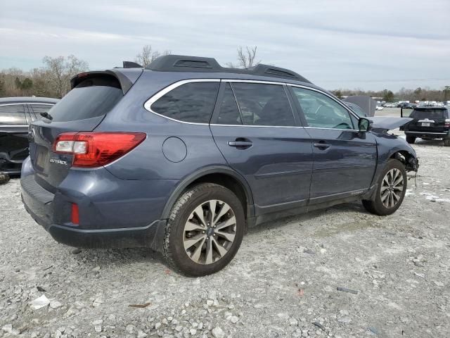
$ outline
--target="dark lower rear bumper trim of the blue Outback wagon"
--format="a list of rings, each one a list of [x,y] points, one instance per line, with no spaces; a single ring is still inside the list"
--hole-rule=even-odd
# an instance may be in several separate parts
[[[56,224],[56,194],[37,184],[34,175],[20,179],[22,201],[32,218],[57,242],[78,248],[107,249],[149,247],[162,250],[166,220],[155,220],[142,227],[82,229],[78,225]]]

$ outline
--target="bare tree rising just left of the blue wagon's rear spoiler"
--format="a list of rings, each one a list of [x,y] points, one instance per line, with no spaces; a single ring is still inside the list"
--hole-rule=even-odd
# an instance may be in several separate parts
[[[42,61],[44,68],[41,69],[48,78],[51,86],[51,92],[57,97],[63,97],[70,90],[70,79],[88,69],[86,61],[79,60],[73,55],[52,58],[45,56]]]

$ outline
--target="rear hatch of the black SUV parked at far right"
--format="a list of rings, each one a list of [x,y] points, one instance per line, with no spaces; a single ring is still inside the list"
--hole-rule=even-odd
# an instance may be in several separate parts
[[[405,126],[406,131],[445,132],[449,128],[448,113],[444,107],[416,107],[409,115],[413,120]]]

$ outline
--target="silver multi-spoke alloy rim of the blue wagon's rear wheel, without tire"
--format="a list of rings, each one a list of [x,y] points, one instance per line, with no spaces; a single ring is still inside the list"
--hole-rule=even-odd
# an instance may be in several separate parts
[[[198,264],[212,264],[225,256],[236,236],[236,217],[224,201],[212,199],[197,206],[183,231],[184,250]]]

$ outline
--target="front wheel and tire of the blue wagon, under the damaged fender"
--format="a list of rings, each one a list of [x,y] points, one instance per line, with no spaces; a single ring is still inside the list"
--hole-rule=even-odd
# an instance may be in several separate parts
[[[400,180],[399,175],[401,175],[402,180]],[[397,185],[396,182],[398,182]],[[407,184],[408,179],[404,164],[393,158],[390,159],[378,179],[374,199],[362,201],[364,208],[375,215],[384,216],[394,213],[403,202]]]

